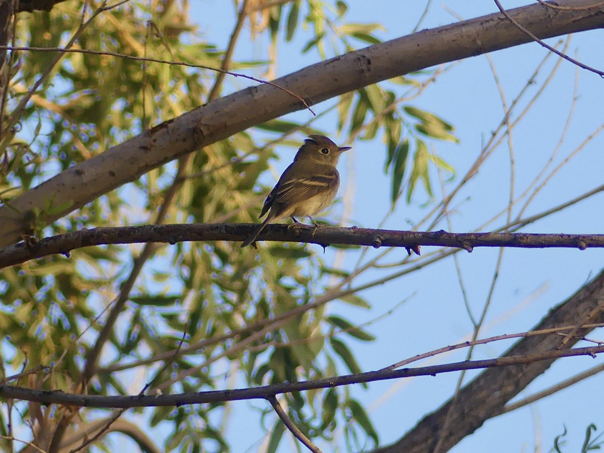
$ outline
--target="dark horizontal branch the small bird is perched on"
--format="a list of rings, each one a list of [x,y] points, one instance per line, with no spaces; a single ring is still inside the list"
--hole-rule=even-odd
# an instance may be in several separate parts
[[[242,241],[255,224],[249,223],[187,223],[184,225],[141,225],[92,228],[59,236],[37,239],[0,249],[0,268],[53,254],[69,256],[75,249],[94,245],[159,242],[175,244],[187,241]],[[418,245],[463,248],[602,248],[604,234],[538,234],[538,233],[447,233],[446,231],[397,231],[370,228],[340,228],[320,225],[267,225],[258,240],[291,241],[329,245],[365,245],[379,247],[416,248]]]

